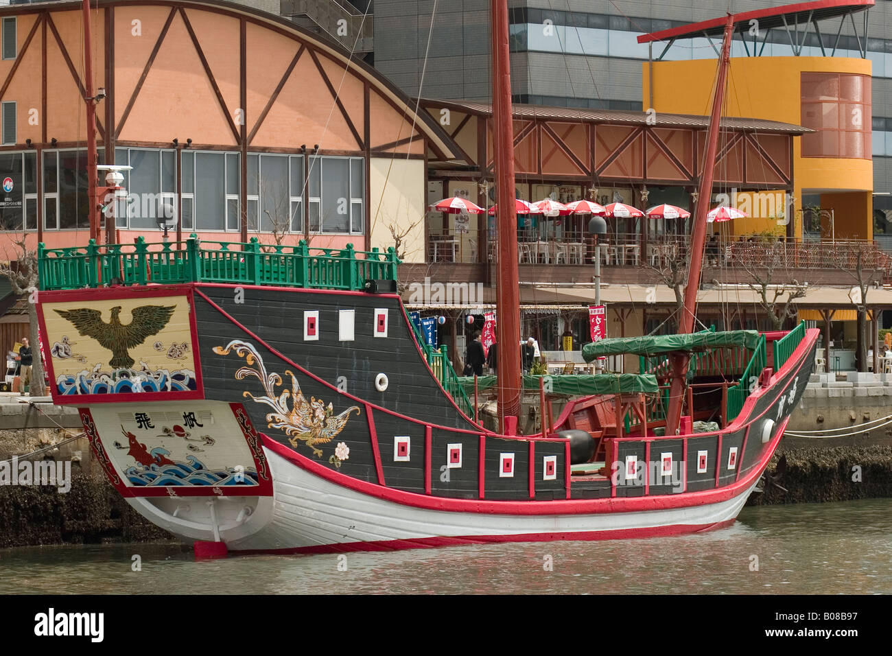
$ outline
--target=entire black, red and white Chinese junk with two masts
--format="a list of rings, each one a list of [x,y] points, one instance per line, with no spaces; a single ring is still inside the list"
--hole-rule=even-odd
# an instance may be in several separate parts
[[[497,84],[505,11],[494,22],[505,32]],[[499,111],[510,112],[504,91]],[[709,167],[704,179],[708,192]],[[694,302],[706,209],[695,222]],[[516,228],[513,210],[500,224]],[[516,243],[505,234],[509,264]],[[638,353],[639,375],[591,377],[593,393],[536,435],[511,434],[517,408],[500,396],[496,433],[475,422],[449,361],[407,317],[397,263],[392,249],[255,239],[236,250],[194,236],[41,248],[40,328],[60,345],[49,359],[54,403],[78,407],[136,511],[196,553],[667,536],[735,519],[814,365],[817,330],[693,332],[690,303],[680,335],[586,346],[589,360]],[[516,290],[516,269],[500,270],[500,291],[511,275]],[[120,284],[103,286],[112,278]],[[513,303],[499,316],[516,317]],[[500,360],[499,371],[517,379],[499,384],[516,401],[512,351],[499,356],[513,369]],[[694,432],[695,419],[714,428]]]

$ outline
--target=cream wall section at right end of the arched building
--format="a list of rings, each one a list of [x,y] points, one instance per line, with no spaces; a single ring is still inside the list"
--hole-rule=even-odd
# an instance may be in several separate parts
[[[369,160],[372,248],[394,245],[393,228],[404,233],[403,262],[425,261],[425,162],[403,157]]]

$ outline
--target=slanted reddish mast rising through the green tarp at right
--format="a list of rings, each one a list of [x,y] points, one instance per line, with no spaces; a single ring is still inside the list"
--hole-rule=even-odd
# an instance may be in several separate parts
[[[678,332],[688,335],[694,331],[694,318],[697,316],[697,292],[700,288],[700,273],[703,266],[703,249],[706,245],[706,213],[709,212],[710,199],[713,195],[713,172],[715,168],[715,152],[719,141],[719,121],[722,118],[722,101],[724,98],[725,79],[728,74],[728,62],[731,54],[731,35],[734,31],[734,16],[728,14],[725,22],[722,56],[719,58],[718,76],[715,80],[713,95],[713,111],[709,117],[709,131],[706,137],[706,154],[703,162],[703,175],[700,176],[700,187],[697,198],[697,211],[694,213],[693,233],[690,237],[690,270],[688,286],[684,290],[684,308],[678,321]],[[681,420],[681,405],[684,403],[684,387],[688,375],[690,354],[673,353],[670,357],[673,367],[672,387],[669,390],[669,408],[666,413],[666,435],[677,435]],[[689,408],[690,412],[691,409]]]

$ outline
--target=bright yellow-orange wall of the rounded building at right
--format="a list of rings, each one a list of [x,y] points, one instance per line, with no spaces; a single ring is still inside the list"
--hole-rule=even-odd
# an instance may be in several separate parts
[[[653,97],[651,93],[653,67]],[[658,112],[703,115],[709,112],[713,93],[715,60],[685,62],[645,62],[642,101],[645,109]],[[737,57],[731,59],[723,104],[724,116],[779,120],[802,125],[801,73],[838,72],[871,75],[871,62],[845,57]],[[684,80],[679,84],[679,80]],[[870,125],[871,117],[864,117]],[[801,137],[793,139],[793,195],[796,198],[791,220],[794,233],[802,237],[799,211],[804,194],[822,195],[835,210],[837,236],[873,237],[873,162],[870,159],[803,157]],[[830,193],[822,193],[822,192]],[[849,192],[849,193],[843,193]],[[763,232],[770,220],[732,221],[731,234]],[[780,228],[782,229],[782,228]],[[840,232],[841,231],[841,232]]]

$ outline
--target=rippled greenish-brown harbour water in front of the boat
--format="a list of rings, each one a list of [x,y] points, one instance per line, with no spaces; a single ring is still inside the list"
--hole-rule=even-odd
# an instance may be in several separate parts
[[[141,571],[132,569],[137,554]],[[196,562],[178,544],[5,549],[0,574],[0,593],[888,594],[892,499],[745,508],[734,526],[698,536],[351,553],[345,561]]]

